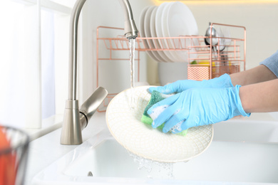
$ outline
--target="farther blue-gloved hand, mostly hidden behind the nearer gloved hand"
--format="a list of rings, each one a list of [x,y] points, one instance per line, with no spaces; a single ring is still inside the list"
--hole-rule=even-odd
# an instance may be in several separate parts
[[[170,83],[165,86],[151,87],[149,88],[150,93],[153,93],[153,90],[157,90],[163,94],[171,93],[181,93],[184,90],[190,88],[231,88],[233,87],[230,75],[224,74],[218,78],[213,78],[210,80],[177,80],[174,83]]]

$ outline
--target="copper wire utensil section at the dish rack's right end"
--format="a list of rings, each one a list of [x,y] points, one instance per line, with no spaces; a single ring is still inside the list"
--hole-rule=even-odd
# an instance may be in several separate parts
[[[195,48],[194,51],[188,51],[190,63],[187,67],[187,79],[189,80],[209,80],[220,77],[220,75],[238,73],[245,70],[246,61],[246,29],[244,26],[235,26],[221,23],[212,23],[212,25],[222,26],[224,28],[234,28],[237,33],[234,37],[213,37],[217,40],[216,46],[207,46],[205,39],[212,39],[212,36],[199,38],[198,44],[192,44],[189,48]],[[239,36],[241,33],[241,36]],[[192,37],[193,39],[194,37]],[[229,44],[222,43],[221,39],[229,40]],[[192,43],[192,42],[191,42]],[[225,48],[224,51],[217,50]],[[197,54],[197,58],[190,57],[190,54]],[[191,55],[192,56],[192,55]]]

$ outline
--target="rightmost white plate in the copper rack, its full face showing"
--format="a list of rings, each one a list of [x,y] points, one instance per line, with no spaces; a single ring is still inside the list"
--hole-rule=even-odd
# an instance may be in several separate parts
[[[173,2],[173,4],[170,4],[168,10],[165,11],[165,14],[163,14],[163,16],[166,16],[166,26],[164,26],[164,28],[167,29],[167,31],[164,31],[167,36],[177,37],[198,35],[198,28],[195,18],[190,9],[185,4],[179,1]],[[190,41],[190,39],[186,41],[187,46],[190,46]],[[196,42],[197,39],[195,39],[191,43],[191,46],[194,45],[193,43]],[[172,42],[172,44],[173,47],[174,44],[175,46],[177,46],[179,43],[177,40],[175,40],[175,42]],[[194,48],[192,48],[191,50],[191,52],[194,52]],[[175,56],[177,56],[177,61],[187,62],[187,51],[175,51],[174,53],[176,54]],[[190,56],[190,58],[194,58],[194,56]]]

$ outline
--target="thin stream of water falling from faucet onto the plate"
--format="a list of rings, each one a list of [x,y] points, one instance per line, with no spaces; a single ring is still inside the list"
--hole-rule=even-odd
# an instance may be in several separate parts
[[[130,108],[134,109],[135,107],[135,38],[129,39],[129,48],[130,48],[130,87],[131,87],[131,95],[130,95]]]

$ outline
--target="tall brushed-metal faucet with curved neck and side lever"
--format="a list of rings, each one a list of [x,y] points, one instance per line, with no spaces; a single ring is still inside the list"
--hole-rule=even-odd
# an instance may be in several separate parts
[[[125,37],[136,38],[138,30],[133,20],[133,13],[128,0],[118,0],[122,6],[125,16]],[[68,73],[68,100],[66,100],[65,112],[63,115],[63,125],[61,132],[61,144],[81,144],[82,129],[88,125],[88,121],[96,112],[99,105],[108,95],[107,90],[98,87],[96,91],[88,97],[79,109],[76,99],[76,78],[77,78],[77,43],[78,43],[78,19],[83,4],[86,0],[78,0],[73,6],[70,20],[70,43],[69,43],[69,73]]]

